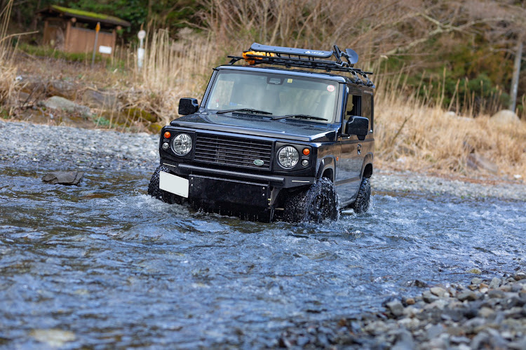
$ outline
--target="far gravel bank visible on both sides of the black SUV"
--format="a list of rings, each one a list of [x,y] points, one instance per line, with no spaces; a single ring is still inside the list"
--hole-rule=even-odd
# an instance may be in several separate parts
[[[66,126],[0,121],[0,160],[4,165],[30,169],[150,170],[159,163],[158,135],[118,133]],[[526,185],[480,184],[442,177],[375,170],[374,191],[450,194],[458,197],[496,197],[524,201]]]

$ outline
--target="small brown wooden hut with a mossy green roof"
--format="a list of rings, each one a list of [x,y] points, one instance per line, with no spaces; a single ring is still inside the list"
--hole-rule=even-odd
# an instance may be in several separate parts
[[[116,30],[130,23],[110,15],[51,5],[39,11],[43,17],[43,44],[67,53],[93,52],[97,24],[97,53],[112,55],[115,51]]]

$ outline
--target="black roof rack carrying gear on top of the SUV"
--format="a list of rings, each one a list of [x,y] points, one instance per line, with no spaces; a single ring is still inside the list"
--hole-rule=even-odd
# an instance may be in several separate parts
[[[332,56],[336,60],[330,60]],[[346,62],[342,60],[342,57],[345,58]],[[336,45],[334,51],[321,51],[252,43],[250,50],[243,52],[242,57],[228,56],[228,58],[231,58],[230,65],[234,65],[239,60],[246,60],[250,65],[283,65],[288,68],[300,67],[323,69],[327,72],[349,72],[353,83],[375,87],[375,84],[367,77],[367,74],[372,74],[372,72],[363,72],[363,70],[353,67],[358,62],[358,54],[350,48],[341,51]],[[365,81],[360,76],[363,76]]]

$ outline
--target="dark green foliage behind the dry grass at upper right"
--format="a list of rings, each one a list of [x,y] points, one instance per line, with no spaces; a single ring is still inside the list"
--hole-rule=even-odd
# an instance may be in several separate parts
[[[510,96],[503,89],[511,81],[513,60],[506,57],[506,51],[487,42],[447,44],[435,39],[425,43],[424,51],[433,55],[419,58],[418,69],[407,68],[418,60],[408,54],[389,58],[382,72],[404,72],[400,83],[411,89],[423,86],[419,96],[434,103],[442,101],[445,108],[458,107],[459,112],[507,108]]]

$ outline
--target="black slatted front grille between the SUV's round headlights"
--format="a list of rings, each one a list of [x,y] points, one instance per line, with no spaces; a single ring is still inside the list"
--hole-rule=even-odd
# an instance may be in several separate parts
[[[198,134],[194,160],[242,168],[270,169],[272,142]],[[257,161],[263,161],[258,166]]]

